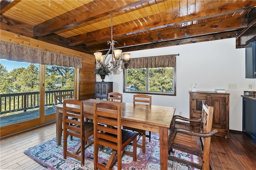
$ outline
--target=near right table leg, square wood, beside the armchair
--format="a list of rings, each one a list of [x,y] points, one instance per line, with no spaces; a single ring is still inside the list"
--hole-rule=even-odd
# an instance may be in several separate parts
[[[160,168],[168,168],[168,128],[159,127],[159,144],[160,144]]]

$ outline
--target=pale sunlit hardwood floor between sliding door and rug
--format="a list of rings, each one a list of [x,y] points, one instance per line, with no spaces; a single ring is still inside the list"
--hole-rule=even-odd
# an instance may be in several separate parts
[[[27,155],[24,150],[56,137],[56,123],[1,138],[1,170],[47,170]]]

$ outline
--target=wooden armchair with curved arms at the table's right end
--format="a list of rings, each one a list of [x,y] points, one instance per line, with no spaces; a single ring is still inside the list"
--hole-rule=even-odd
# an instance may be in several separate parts
[[[175,115],[170,125],[170,131],[168,133],[168,158],[195,168],[202,170],[210,169],[210,142],[211,137],[218,133],[216,129],[212,130],[213,120],[212,106],[208,106],[203,102],[202,104],[202,118],[199,120],[187,119],[180,115]],[[176,119],[181,119],[189,122],[202,122],[202,128],[198,131],[192,131],[190,129],[184,129],[175,127]],[[200,160],[199,163],[190,162],[183,158],[176,157],[171,154],[173,149],[180,150],[189,154],[197,155]]]

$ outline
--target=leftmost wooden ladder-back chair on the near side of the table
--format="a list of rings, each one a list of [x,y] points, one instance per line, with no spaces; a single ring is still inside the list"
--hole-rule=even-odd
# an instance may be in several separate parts
[[[70,106],[72,104],[72,106]],[[81,161],[84,165],[84,150],[92,145],[88,137],[93,135],[93,123],[84,121],[83,102],[76,99],[63,101],[63,158],[67,156]],[[68,135],[80,139],[80,145],[74,152],[68,151]]]

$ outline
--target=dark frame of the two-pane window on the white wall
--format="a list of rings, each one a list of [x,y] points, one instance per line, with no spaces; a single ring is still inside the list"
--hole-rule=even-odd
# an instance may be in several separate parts
[[[160,68],[160,67],[158,67]],[[136,93],[136,94],[155,94],[155,95],[165,95],[165,96],[176,96],[176,64],[173,68],[173,91],[170,92],[149,92],[149,69],[146,68],[146,91],[129,91],[126,90],[126,69],[123,70],[123,92],[124,93]],[[142,68],[138,68],[142,69]]]

